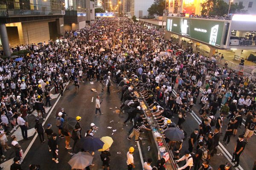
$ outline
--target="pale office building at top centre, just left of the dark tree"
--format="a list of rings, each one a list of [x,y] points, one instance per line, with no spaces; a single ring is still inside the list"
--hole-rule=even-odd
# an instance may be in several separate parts
[[[131,0],[131,17],[134,15],[139,18],[148,16],[148,8],[154,3],[154,0]]]

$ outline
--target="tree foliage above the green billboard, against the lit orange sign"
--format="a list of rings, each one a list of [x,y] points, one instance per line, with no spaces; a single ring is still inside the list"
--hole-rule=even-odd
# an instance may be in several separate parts
[[[229,4],[224,2],[224,0],[206,0],[204,3],[201,4],[202,6],[202,15],[219,15],[223,16],[227,14]],[[244,6],[238,5],[237,3],[230,5],[230,14],[238,14],[244,13],[243,10]]]

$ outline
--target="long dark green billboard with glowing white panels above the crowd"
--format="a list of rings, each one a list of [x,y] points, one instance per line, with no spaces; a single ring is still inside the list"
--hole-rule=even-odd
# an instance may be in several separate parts
[[[220,46],[223,21],[200,20],[184,17],[167,17],[166,30],[176,34],[206,42],[210,45]]]

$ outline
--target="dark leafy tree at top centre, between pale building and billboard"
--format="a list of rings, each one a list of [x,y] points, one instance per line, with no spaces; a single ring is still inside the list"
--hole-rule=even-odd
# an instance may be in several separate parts
[[[148,15],[163,16],[164,8],[165,8],[165,0],[154,0],[154,3],[148,8]]]

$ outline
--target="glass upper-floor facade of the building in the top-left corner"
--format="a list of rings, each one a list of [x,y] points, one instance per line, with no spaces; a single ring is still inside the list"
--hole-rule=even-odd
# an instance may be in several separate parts
[[[0,0],[0,17],[61,14],[64,0]]]

